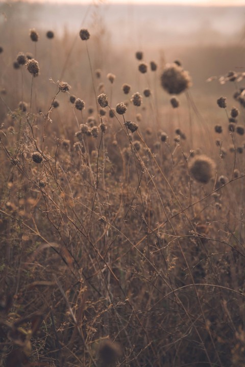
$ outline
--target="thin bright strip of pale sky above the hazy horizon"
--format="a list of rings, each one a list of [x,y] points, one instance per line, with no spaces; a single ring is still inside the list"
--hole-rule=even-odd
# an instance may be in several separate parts
[[[245,6],[245,0],[29,0],[38,3],[67,3],[67,4],[90,4],[90,3],[121,3],[121,4],[182,4],[182,5],[206,5],[206,6]]]

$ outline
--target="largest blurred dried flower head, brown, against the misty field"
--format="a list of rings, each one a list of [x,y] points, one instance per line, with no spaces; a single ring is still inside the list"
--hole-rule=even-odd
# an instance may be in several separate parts
[[[191,86],[191,78],[182,67],[168,64],[161,75],[161,86],[169,94],[180,94]]]

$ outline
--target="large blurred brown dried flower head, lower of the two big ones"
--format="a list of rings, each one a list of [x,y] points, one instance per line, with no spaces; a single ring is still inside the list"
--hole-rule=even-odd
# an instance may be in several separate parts
[[[190,163],[192,177],[202,183],[208,183],[214,176],[215,163],[206,155],[195,155]]]

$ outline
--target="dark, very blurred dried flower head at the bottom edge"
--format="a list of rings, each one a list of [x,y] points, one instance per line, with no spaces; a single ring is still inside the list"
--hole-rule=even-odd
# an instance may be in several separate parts
[[[116,363],[121,356],[119,344],[112,343],[111,340],[104,340],[99,348],[99,358],[102,367],[107,367]]]

